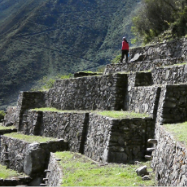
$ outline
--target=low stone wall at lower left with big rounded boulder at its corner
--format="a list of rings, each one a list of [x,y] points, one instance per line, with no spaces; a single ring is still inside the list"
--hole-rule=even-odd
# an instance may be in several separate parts
[[[46,143],[28,143],[1,136],[1,163],[29,176],[40,176],[47,167],[49,153],[67,150],[64,140]]]

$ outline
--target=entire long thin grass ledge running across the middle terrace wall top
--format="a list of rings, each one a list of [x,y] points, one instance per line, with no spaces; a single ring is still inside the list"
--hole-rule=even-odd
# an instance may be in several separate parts
[[[43,112],[61,112],[61,113],[95,113],[98,115],[116,118],[116,119],[125,119],[125,118],[145,118],[149,117],[148,114],[141,114],[129,111],[81,111],[81,110],[58,110],[56,108],[35,108],[32,111],[43,111]]]

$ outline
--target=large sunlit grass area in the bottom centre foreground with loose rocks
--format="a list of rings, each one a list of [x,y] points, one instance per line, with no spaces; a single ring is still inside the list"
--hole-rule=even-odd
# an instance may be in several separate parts
[[[153,186],[154,179],[142,181],[135,170],[140,165],[100,166],[78,153],[57,152],[63,168],[62,186]],[[143,163],[145,165],[145,163]],[[146,164],[147,165],[147,164]],[[152,176],[152,178],[154,178]]]

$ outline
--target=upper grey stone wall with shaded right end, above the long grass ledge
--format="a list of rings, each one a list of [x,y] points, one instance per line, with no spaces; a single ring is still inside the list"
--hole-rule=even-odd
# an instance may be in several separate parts
[[[123,108],[127,75],[57,80],[48,92],[48,106],[62,110],[120,110]]]

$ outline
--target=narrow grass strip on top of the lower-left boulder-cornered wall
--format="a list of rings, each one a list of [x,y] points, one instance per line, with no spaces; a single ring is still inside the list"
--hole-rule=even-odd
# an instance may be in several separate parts
[[[4,136],[10,137],[10,138],[15,138],[19,140],[26,141],[28,143],[44,143],[44,142],[49,142],[49,141],[57,141],[55,138],[48,138],[48,137],[43,137],[43,136],[28,136],[24,135],[21,133],[9,133],[9,134],[4,134]]]

